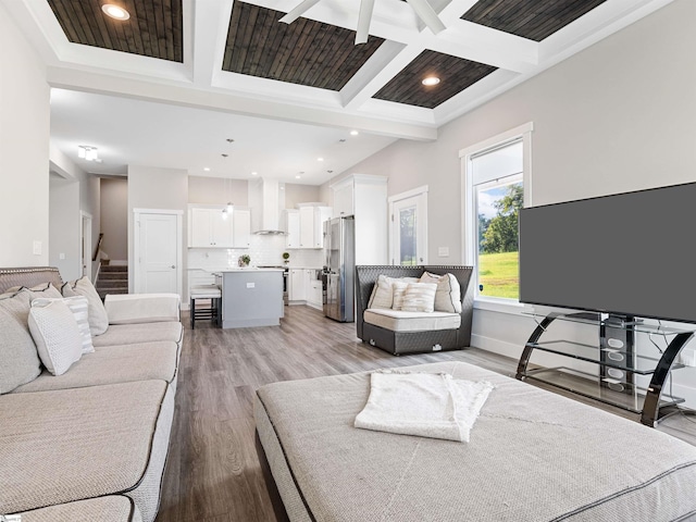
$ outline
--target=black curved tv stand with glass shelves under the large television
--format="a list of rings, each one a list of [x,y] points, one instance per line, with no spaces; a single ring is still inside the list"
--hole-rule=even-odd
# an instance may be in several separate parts
[[[693,330],[668,328],[646,324],[633,316],[596,312],[551,312],[547,315],[532,315],[537,326],[524,345],[518,363],[518,380],[538,381],[633,411],[641,415],[643,424],[652,427],[669,409],[684,402],[683,398],[663,393],[663,386],[672,370],[684,368],[676,363],[676,358],[694,336]],[[587,345],[566,339],[542,341],[542,336],[556,320],[597,327],[599,344]],[[669,343],[659,358],[637,355],[634,351],[634,338],[637,334],[659,334],[666,339],[669,338]],[[532,368],[530,359],[536,351],[592,363],[598,370],[591,373],[564,365]],[[636,376],[650,377],[649,384],[638,386],[635,382]]]

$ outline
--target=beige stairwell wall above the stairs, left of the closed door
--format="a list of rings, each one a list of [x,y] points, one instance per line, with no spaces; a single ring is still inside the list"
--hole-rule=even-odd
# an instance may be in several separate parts
[[[104,235],[101,250],[111,261],[128,260],[128,181],[102,178],[100,194],[100,229]]]

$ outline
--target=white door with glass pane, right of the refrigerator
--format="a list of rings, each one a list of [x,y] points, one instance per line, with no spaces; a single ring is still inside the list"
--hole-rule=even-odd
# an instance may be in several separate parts
[[[427,191],[411,194],[389,198],[391,264],[427,263]]]

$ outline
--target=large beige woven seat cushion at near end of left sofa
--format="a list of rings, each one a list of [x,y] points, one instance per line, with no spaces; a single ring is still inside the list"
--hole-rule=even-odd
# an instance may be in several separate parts
[[[3,395],[0,513],[126,493],[153,520],[172,411],[164,381]]]

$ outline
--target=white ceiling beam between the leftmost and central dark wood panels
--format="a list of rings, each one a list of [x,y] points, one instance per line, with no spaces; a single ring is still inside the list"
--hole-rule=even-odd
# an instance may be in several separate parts
[[[215,74],[222,69],[225,53],[229,16],[233,0],[194,2],[184,0],[184,45],[192,42],[192,79],[194,84],[202,87],[212,85]],[[187,22],[187,14],[192,16]],[[186,28],[192,29],[192,36],[187,38]],[[184,61],[186,63],[186,55]]]

